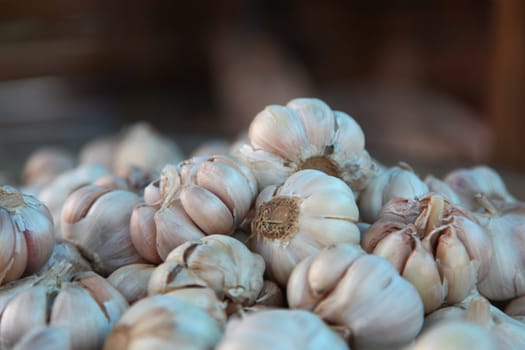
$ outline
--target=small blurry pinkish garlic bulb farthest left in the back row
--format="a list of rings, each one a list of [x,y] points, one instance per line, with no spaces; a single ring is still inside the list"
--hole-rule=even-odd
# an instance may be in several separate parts
[[[22,170],[22,184],[43,187],[74,167],[75,158],[69,151],[53,146],[41,147],[27,158]]]

